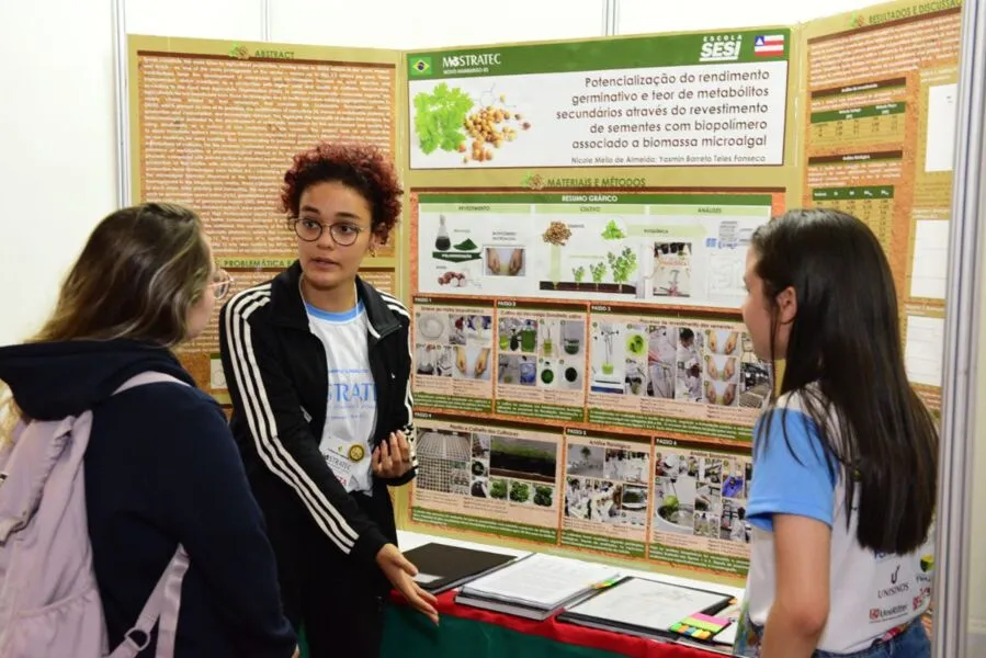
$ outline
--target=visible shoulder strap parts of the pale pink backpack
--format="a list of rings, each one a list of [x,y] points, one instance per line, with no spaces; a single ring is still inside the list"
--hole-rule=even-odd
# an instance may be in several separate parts
[[[124,382],[113,395],[145,384],[173,383],[188,386],[171,375],[145,372],[134,375]],[[158,645],[155,658],[172,658],[178,631],[178,616],[181,609],[181,583],[189,569],[189,554],[184,546],[178,545],[174,556],[158,579],[154,591],[144,603],[144,610],[137,616],[137,623],[126,632],[124,639],[110,654],[110,658],[136,658],[150,644],[150,633],[155,624],[158,626]]]

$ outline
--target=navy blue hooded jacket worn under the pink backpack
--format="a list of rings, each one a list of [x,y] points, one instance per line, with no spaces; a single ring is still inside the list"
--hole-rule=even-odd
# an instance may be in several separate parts
[[[146,371],[191,386],[112,396]],[[170,351],[125,340],[0,348],[0,379],[29,418],[93,410],[86,497],[111,648],[181,543],[191,566],[177,658],[292,656],[297,638],[281,610],[274,555],[226,418]],[[152,640],[140,656],[154,649]]]

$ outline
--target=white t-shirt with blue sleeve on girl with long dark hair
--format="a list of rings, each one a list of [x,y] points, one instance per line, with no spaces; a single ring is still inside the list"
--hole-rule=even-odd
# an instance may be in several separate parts
[[[846,524],[850,510],[846,509],[843,474],[838,468],[835,477],[830,474],[817,426],[804,412],[801,397],[783,396],[768,413],[773,419],[766,447],[757,439],[766,417],[753,434],[753,478],[746,515],[753,530],[745,600],[752,624],[741,621],[734,649],[737,656],[759,655],[753,626],[767,623],[777,585],[773,514],[794,514],[831,529],[829,613],[817,648],[834,654],[859,651],[928,610],[933,538],[929,533],[921,549],[903,556],[877,555],[860,546],[855,538],[859,515],[851,514]]]

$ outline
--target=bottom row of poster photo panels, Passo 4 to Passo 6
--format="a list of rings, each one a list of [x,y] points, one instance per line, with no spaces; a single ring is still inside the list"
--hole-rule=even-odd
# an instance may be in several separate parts
[[[749,567],[746,449],[421,413],[418,455],[416,522],[730,576]]]

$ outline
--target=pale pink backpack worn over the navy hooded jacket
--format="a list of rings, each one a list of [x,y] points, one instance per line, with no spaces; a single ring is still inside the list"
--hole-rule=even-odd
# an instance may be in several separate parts
[[[114,395],[172,382],[141,373]],[[92,411],[21,422],[0,451],[0,658],[134,658],[158,624],[157,658],[171,658],[189,556],[179,545],[126,638],[110,653],[92,569],[82,458]]]

